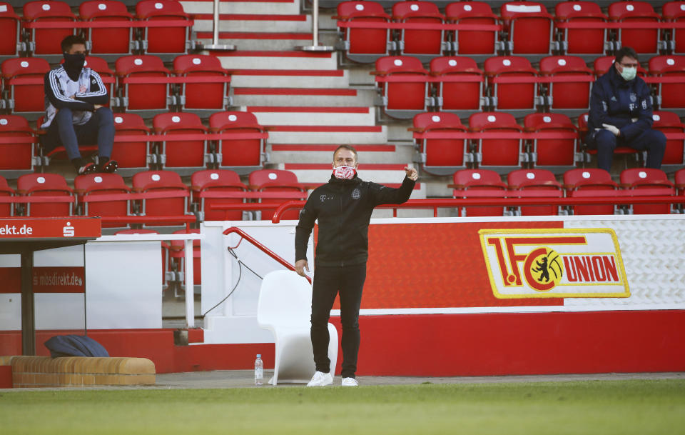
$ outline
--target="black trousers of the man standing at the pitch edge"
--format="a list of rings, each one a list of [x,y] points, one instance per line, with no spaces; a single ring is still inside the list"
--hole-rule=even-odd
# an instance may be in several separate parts
[[[328,318],[340,293],[342,323],[342,377],[353,378],[359,353],[359,306],[366,279],[366,263],[344,267],[316,266],[312,294],[312,347],[317,371],[328,373]]]

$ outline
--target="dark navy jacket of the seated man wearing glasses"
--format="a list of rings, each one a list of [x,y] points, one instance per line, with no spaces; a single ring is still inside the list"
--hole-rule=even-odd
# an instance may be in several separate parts
[[[632,122],[631,118],[637,121]],[[630,141],[651,129],[651,99],[649,86],[639,77],[625,81],[612,65],[592,86],[588,131],[610,124],[621,130],[621,137]]]

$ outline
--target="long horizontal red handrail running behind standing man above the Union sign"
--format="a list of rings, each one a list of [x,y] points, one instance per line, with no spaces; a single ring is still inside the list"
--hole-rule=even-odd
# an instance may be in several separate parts
[[[512,192],[512,195],[515,193]],[[301,209],[306,201],[287,201],[280,204],[271,218],[274,224],[280,222],[280,216],[288,209]],[[628,205],[628,204],[685,204],[685,196],[592,196],[572,198],[442,198],[442,199],[410,199],[404,204],[382,204],[381,209],[393,209],[392,216],[397,217],[397,209],[433,209],[433,217],[437,217],[437,209],[457,208],[462,206],[578,206],[578,205]]]

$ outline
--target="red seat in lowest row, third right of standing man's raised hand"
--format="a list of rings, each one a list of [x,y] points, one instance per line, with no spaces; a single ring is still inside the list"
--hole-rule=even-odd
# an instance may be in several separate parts
[[[593,196],[623,196],[618,184],[604,169],[570,169],[564,172],[564,188],[569,198]],[[572,206],[572,214],[615,214],[617,207],[613,204]]]

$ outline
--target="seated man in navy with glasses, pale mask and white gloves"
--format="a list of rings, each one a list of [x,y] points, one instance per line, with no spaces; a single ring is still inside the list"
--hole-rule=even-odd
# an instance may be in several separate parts
[[[651,129],[649,86],[636,76],[637,54],[630,47],[616,53],[614,65],[592,86],[585,142],[597,149],[597,166],[611,172],[614,149],[647,151],[646,166],[661,168],[666,136]]]

